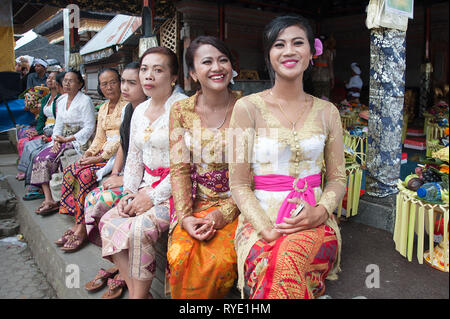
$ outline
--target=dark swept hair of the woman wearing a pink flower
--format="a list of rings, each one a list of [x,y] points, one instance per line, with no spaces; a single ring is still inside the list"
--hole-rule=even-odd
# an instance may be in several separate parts
[[[264,47],[264,59],[266,61],[267,71],[269,72],[272,83],[275,81],[275,73],[270,63],[270,49],[278,38],[278,35],[286,28],[291,26],[298,26],[305,31],[308,38],[311,53],[314,56],[316,49],[314,48],[314,33],[308,20],[300,15],[290,14],[277,17],[269,22],[264,28],[263,47]],[[307,71],[310,69],[308,67]]]

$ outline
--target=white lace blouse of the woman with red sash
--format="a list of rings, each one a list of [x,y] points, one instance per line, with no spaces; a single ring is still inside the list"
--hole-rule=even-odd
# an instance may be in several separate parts
[[[130,146],[124,170],[124,189],[136,193],[142,187],[151,186],[160,180],[146,172],[149,169],[169,168],[169,113],[173,103],[187,98],[180,92],[174,92],[166,101],[165,112],[149,126],[144,115],[151,98],[139,104],[131,118]],[[170,198],[170,174],[155,188],[149,188],[148,194],[153,205]]]

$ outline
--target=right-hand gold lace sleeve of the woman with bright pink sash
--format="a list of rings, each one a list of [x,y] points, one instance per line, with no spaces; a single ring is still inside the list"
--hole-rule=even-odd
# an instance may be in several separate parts
[[[328,137],[325,142],[325,188],[318,204],[323,205],[329,214],[336,209],[340,200],[344,197],[347,184],[345,174],[344,141],[342,124],[339,111],[334,105],[328,112]]]

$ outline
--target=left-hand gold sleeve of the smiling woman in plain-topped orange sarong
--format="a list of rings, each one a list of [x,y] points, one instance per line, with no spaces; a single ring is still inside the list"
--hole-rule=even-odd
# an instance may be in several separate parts
[[[182,103],[176,102],[169,117],[170,182],[178,223],[192,215],[192,181],[190,152],[184,141],[184,121]]]

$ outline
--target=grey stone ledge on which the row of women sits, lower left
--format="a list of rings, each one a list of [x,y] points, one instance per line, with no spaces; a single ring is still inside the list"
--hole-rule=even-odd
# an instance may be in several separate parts
[[[101,248],[88,244],[81,250],[74,253],[64,253],[55,244],[66,229],[73,225],[71,216],[53,214],[49,216],[39,216],[34,210],[40,204],[40,200],[23,201],[25,193],[23,182],[17,181],[14,176],[15,166],[0,167],[0,173],[6,176],[7,183],[2,187],[7,187],[19,198],[16,206],[16,218],[20,224],[20,232],[24,235],[33,256],[47,277],[48,282],[56,291],[58,298],[63,299],[99,299],[106,291],[106,288],[95,293],[89,293],[84,289],[84,284],[92,280],[100,268],[110,268],[112,263],[101,257]],[[167,252],[167,234],[164,234],[156,244],[156,274],[150,289],[155,299],[166,299],[164,294],[165,268]],[[66,285],[66,280],[72,278],[73,265],[80,270],[79,287],[70,288]],[[69,280],[70,281],[70,280]],[[128,298],[128,291],[125,290],[122,298]],[[227,298],[238,299],[240,293],[234,287]]]

